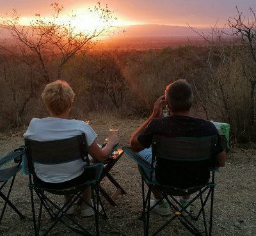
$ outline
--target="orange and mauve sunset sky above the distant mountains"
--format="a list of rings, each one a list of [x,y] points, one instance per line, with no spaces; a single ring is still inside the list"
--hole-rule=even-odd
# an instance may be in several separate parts
[[[45,17],[51,15],[52,0],[0,0],[0,15],[12,13],[15,8],[21,17],[33,17],[40,13]],[[65,12],[87,10],[97,1],[91,0],[61,0]],[[193,27],[213,26],[218,20],[219,26],[224,26],[228,17],[237,15],[236,6],[244,15],[249,15],[249,8],[256,10],[256,0],[108,0],[109,9],[115,11],[118,24],[166,24],[170,26]]]

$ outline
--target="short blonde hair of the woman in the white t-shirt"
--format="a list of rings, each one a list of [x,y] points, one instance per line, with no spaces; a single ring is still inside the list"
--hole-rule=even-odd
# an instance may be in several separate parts
[[[55,115],[63,114],[74,100],[74,91],[63,80],[56,80],[45,86],[41,97],[47,109]]]

